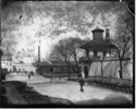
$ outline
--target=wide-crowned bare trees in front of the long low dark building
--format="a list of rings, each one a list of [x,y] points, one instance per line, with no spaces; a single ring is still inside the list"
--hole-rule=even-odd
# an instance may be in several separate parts
[[[83,44],[85,43],[85,40],[82,40],[79,38],[66,38],[64,40],[61,40],[59,43],[59,45],[57,45],[54,47],[54,50],[52,51],[52,56],[53,56],[53,59],[57,59],[57,60],[64,60],[65,63],[66,63],[66,70],[67,70],[67,73],[69,73],[69,78],[71,78],[71,71],[69,69],[70,65],[73,65],[71,63],[71,61],[74,61],[75,62],[75,66],[76,69],[74,69],[74,71],[76,72],[77,74],[77,77],[78,77],[78,73],[79,73],[79,63],[78,63],[78,59],[82,57],[83,55],[83,50],[79,48]],[[55,53],[55,56],[54,56]],[[52,57],[51,56],[51,57]],[[54,58],[57,57],[57,58]]]

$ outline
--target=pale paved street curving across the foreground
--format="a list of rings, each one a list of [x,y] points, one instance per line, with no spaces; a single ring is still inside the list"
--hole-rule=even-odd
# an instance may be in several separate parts
[[[28,80],[27,74],[10,74],[7,76],[7,81],[23,81],[27,82],[29,86],[33,86],[35,90],[42,95],[48,95],[51,97],[66,98],[72,100],[73,102],[77,102],[81,100],[91,100],[99,99],[102,100],[104,98],[113,97],[123,97],[128,100],[132,99],[131,94],[125,94],[121,92],[115,92],[107,88],[101,88],[97,86],[86,85],[84,86],[84,93],[79,92],[79,84],[75,82],[67,81],[59,81],[50,83],[50,78],[42,77],[40,75],[35,74]]]

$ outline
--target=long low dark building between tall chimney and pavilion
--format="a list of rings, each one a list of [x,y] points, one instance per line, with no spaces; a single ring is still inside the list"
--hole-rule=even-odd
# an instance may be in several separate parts
[[[65,61],[38,62],[37,72],[45,76],[77,76],[75,62],[66,64]]]

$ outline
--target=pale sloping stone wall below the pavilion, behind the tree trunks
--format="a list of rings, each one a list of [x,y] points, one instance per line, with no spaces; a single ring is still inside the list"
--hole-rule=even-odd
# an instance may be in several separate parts
[[[103,62],[103,75],[111,77],[119,77],[120,63],[119,61]],[[89,68],[90,76],[101,75],[101,63],[94,62]],[[123,62],[123,78],[133,78],[133,63],[128,61]]]

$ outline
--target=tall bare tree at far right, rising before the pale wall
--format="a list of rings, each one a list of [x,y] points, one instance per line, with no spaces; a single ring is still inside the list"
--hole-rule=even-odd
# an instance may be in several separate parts
[[[125,58],[128,58],[132,52],[132,33],[126,27],[119,27],[113,43],[118,47],[115,55],[120,60],[120,78],[123,78],[122,62]]]

